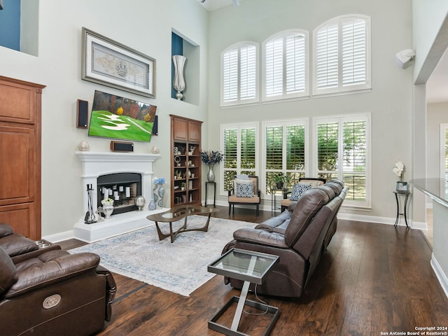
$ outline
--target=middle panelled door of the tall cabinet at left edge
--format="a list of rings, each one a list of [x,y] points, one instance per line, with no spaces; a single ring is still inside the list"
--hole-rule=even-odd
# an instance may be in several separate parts
[[[0,206],[33,202],[36,181],[35,131],[0,125]]]

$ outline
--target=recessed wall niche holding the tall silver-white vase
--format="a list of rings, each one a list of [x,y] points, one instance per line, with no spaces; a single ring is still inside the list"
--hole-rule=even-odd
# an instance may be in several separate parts
[[[200,46],[191,41],[179,31],[172,29],[172,56],[183,55],[186,57],[186,65],[183,72],[185,78],[185,90],[183,90],[183,102],[199,105],[200,99]],[[171,97],[176,99],[176,90],[173,88],[174,65],[171,62]]]

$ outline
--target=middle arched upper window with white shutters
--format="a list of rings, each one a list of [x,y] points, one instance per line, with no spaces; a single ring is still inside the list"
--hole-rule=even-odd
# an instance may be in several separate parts
[[[308,32],[298,29],[263,43],[263,101],[309,94],[308,49]]]

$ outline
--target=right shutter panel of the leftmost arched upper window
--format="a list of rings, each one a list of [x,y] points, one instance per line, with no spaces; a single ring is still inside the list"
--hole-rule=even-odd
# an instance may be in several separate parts
[[[255,99],[257,96],[257,52],[253,45],[241,46],[240,99]]]

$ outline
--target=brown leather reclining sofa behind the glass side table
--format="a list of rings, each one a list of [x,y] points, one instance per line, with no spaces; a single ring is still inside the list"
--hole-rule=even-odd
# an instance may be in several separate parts
[[[234,239],[225,246],[223,253],[230,248],[241,248],[279,255],[279,262],[256,291],[266,295],[300,297],[336,232],[337,213],[347,190],[341,180],[332,180],[308,190],[279,216],[253,229],[235,231]],[[225,282],[230,282],[235,288],[241,288],[243,284],[237,279],[226,278]]]

